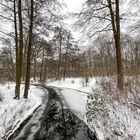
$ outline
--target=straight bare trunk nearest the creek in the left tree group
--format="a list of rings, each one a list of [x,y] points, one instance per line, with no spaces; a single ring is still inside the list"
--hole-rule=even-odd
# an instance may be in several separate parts
[[[26,66],[26,79],[25,79],[24,98],[28,98],[28,90],[29,90],[29,87],[30,87],[33,15],[34,15],[34,1],[31,0],[30,26],[29,26],[29,44],[28,44],[28,52],[27,52],[27,66]]]

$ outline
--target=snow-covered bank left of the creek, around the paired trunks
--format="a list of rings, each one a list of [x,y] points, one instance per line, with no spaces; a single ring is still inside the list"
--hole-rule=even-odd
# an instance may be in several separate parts
[[[29,99],[23,99],[24,87],[21,86],[20,100],[14,100],[14,83],[0,85],[0,139],[11,135],[42,103],[44,91],[31,86]]]

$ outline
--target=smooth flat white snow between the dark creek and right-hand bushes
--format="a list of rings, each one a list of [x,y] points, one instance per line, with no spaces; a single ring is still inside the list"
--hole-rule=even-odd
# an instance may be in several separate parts
[[[66,78],[65,80],[47,81],[47,86],[60,88],[60,96],[65,104],[80,119],[86,113],[87,95],[93,93],[93,89],[98,87],[94,77],[89,78],[86,86],[84,78]]]

